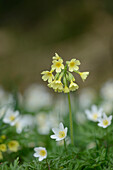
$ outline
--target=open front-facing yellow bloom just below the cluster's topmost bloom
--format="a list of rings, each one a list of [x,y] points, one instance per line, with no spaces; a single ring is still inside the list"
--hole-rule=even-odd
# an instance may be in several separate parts
[[[64,69],[64,65],[62,64],[63,60],[59,59],[57,60],[53,60],[53,65],[51,66],[53,70],[56,70],[57,73],[61,72],[61,69]]]

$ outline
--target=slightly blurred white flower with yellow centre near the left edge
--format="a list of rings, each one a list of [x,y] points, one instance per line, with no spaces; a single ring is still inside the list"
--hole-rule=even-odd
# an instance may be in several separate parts
[[[14,126],[15,120],[17,119],[18,116],[19,116],[19,111],[13,111],[12,108],[8,108],[3,118],[3,122],[8,123],[11,126]]]

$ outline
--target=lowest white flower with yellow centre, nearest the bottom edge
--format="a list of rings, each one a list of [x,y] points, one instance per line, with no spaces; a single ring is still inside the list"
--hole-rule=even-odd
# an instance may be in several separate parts
[[[35,153],[33,154],[34,157],[39,157],[39,161],[42,161],[47,157],[47,151],[43,147],[36,147],[34,148]]]

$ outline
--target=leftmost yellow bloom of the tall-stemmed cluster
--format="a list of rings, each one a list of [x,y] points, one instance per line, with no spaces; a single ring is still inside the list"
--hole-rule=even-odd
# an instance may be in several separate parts
[[[54,75],[52,74],[52,71],[43,71],[41,74],[43,74],[42,79],[44,81],[47,81],[50,83],[52,82],[52,79],[54,79]]]

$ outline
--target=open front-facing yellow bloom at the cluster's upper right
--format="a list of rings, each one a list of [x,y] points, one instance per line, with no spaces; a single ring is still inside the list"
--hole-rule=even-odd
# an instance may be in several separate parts
[[[78,65],[80,65],[80,61],[76,59],[72,59],[71,61],[68,61],[67,64],[69,67],[69,71],[73,72],[79,69]]]

